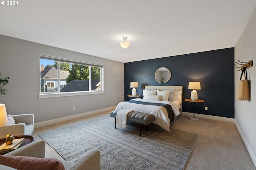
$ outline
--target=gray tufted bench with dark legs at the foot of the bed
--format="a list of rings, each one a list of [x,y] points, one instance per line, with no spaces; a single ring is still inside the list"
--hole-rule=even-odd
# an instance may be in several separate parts
[[[110,117],[115,118],[115,128],[116,128],[116,114],[120,110],[114,110],[110,112]],[[127,115],[127,121],[138,123],[140,127],[140,136],[141,136],[141,125],[146,125],[148,130],[148,125],[156,120],[156,117],[149,113],[142,113],[138,111],[132,111]]]

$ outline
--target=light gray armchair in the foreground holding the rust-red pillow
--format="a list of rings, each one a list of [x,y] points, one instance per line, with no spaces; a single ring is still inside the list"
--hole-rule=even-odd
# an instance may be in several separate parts
[[[40,158],[42,159],[50,159],[50,160],[57,160],[57,162],[61,162],[61,164],[64,166],[65,170],[100,170],[100,151],[98,150],[90,150],[89,152],[86,152],[86,154],[80,158],[77,162],[68,162],[66,160],[58,160],[56,158],[44,158],[45,157],[45,141],[44,140],[36,140],[35,142],[32,142],[30,144],[27,144],[25,146],[22,146],[21,148],[18,148],[12,152],[9,152],[5,155],[3,155],[0,158],[0,161],[4,157],[18,157],[18,158]],[[7,158],[9,161],[9,158]],[[2,159],[3,160],[3,159]],[[7,161],[7,162],[8,162]],[[36,161],[29,161],[36,162]],[[5,163],[5,162],[4,162]],[[11,168],[9,166],[5,166],[3,162],[0,162],[0,169],[2,170],[14,170],[15,168]],[[18,162],[20,163],[20,162]],[[28,163],[28,164],[29,164]],[[39,164],[36,164],[36,168],[34,169],[40,169]],[[50,168],[49,168],[50,169]],[[55,168],[57,169],[57,168]]]

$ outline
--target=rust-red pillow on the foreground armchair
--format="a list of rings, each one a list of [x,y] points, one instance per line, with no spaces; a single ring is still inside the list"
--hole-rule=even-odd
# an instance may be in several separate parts
[[[0,164],[18,170],[65,170],[60,160],[55,158],[0,155]]]

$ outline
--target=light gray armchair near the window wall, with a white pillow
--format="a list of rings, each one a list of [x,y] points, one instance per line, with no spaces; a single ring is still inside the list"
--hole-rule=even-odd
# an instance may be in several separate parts
[[[32,134],[34,130],[34,114],[12,115],[12,117],[16,124],[0,127],[0,139],[6,138],[7,134],[14,136]]]

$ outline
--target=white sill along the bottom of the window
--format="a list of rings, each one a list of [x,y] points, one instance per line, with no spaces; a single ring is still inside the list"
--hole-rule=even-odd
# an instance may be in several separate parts
[[[80,95],[92,95],[92,94],[102,94],[104,91],[80,91],[80,92],[69,92],[69,93],[48,93],[39,94],[39,99],[52,98],[52,97],[66,97],[66,96],[80,96]]]

